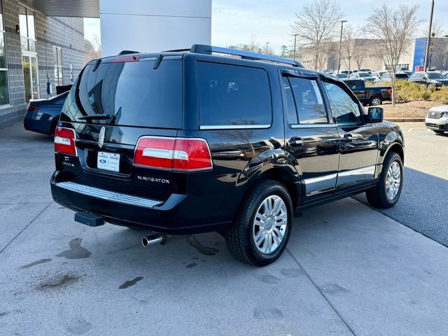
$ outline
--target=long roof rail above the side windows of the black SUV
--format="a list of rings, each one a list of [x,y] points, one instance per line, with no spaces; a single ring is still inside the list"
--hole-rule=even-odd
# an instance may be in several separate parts
[[[208,55],[211,55],[212,52],[217,52],[220,54],[241,56],[241,58],[243,58],[243,59],[271,61],[271,62],[277,62],[277,63],[283,63],[283,64],[290,64],[292,66],[297,66],[299,68],[304,68],[304,66],[300,62],[297,62],[293,59],[287,59],[287,58],[271,56],[271,55],[257,54],[256,52],[248,52],[248,51],[235,50],[235,49],[230,49],[230,48],[215,47],[213,45],[193,44],[193,46],[190,49],[190,52],[195,52],[197,54],[208,54]]]

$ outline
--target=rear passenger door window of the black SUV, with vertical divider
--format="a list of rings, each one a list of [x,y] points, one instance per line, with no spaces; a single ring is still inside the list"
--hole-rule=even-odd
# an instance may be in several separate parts
[[[295,108],[300,124],[328,123],[321,90],[316,80],[290,77],[293,88]]]

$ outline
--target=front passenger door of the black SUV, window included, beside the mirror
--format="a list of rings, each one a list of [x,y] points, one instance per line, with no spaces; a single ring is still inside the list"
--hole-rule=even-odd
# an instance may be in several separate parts
[[[374,124],[364,123],[363,107],[345,85],[325,79],[324,86],[339,133],[338,193],[358,188],[374,179],[379,149],[378,133]]]

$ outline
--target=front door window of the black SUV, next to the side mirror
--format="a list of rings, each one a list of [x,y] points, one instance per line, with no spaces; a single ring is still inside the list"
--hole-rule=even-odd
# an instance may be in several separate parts
[[[336,123],[361,123],[362,116],[358,102],[334,83],[325,82],[332,115]]]

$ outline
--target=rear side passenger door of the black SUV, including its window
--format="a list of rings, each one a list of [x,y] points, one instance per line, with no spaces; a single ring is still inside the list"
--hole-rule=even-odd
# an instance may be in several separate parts
[[[311,74],[312,75],[312,74]],[[302,181],[302,203],[335,193],[339,163],[339,137],[328,119],[318,78],[283,74],[286,105],[286,151],[296,159]]]

